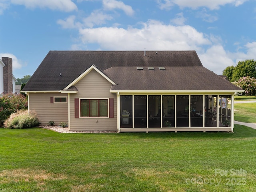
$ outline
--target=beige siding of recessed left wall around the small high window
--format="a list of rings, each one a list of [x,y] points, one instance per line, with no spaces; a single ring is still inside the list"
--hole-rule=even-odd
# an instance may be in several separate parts
[[[68,122],[68,104],[50,103],[51,97],[65,97],[64,93],[30,93],[30,110],[35,110],[40,118],[41,125],[47,125],[48,121],[54,121],[56,125],[60,122]]]

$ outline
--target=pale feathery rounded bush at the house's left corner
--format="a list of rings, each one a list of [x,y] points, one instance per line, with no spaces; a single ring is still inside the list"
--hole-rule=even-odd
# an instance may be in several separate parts
[[[24,129],[39,125],[36,112],[20,110],[10,115],[4,122],[4,127],[8,129]]]

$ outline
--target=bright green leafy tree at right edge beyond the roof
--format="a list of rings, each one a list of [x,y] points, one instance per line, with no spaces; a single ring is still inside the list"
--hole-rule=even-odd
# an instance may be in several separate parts
[[[253,59],[238,62],[234,68],[231,82],[246,76],[256,78],[256,61]]]

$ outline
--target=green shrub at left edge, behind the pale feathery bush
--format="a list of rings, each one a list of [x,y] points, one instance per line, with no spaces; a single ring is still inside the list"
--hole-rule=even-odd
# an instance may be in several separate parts
[[[25,96],[18,94],[4,94],[0,97],[0,126],[18,110],[28,109],[28,102]]]

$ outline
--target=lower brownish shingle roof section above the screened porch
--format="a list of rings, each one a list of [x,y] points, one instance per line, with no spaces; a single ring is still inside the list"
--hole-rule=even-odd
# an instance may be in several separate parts
[[[104,72],[117,84],[111,90],[240,90],[203,66],[165,68],[112,67]]]

